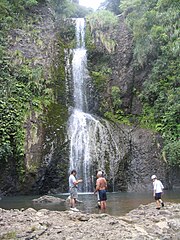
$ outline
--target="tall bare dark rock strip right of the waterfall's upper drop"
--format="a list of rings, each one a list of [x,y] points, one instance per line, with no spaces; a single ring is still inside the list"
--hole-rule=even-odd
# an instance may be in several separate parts
[[[122,108],[125,113],[138,115],[141,113],[141,102],[138,93],[143,88],[143,82],[148,77],[150,66],[135,69],[133,66],[133,39],[122,15],[116,31],[116,51],[112,57],[111,85],[121,89]]]

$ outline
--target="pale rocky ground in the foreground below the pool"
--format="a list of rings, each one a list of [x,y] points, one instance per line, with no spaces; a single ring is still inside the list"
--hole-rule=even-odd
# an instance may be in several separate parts
[[[180,203],[140,205],[121,217],[33,208],[0,208],[0,239],[180,239]]]

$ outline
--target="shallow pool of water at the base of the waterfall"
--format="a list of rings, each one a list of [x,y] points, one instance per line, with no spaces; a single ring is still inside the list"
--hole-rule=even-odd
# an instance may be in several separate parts
[[[69,194],[56,194],[55,197],[66,199]],[[45,208],[56,211],[66,211],[69,209],[67,202],[62,203],[46,203],[37,204],[33,203],[32,200],[39,196],[14,196],[14,197],[3,197],[0,200],[0,208],[4,209],[27,209],[32,207],[36,210]],[[121,216],[129,212],[130,210],[137,208],[140,204],[148,204],[155,202],[151,192],[141,193],[107,193],[107,209],[106,213],[113,216]],[[164,202],[175,202],[180,203],[180,190],[176,191],[165,191],[162,196]],[[82,212],[86,213],[99,213],[100,210],[97,208],[97,197],[93,193],[81,193],[78,199],[82,203],[77,203],[77,208]]]

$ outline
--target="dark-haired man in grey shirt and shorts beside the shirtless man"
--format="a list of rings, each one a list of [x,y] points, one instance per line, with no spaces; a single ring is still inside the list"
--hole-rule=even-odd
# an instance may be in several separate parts
[[[77,186],[82,182],[82,179],[76,179],[76,170],[72,170],[69,176],[69,192],[70,192],[70,210],[78,212],[79,210],[75,207],[77,202],[78,193]]]

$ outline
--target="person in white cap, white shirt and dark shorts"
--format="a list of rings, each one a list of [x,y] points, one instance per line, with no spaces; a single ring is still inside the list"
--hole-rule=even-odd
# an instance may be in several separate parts
[[[157,179],[156,175],[152,175],[151,179],[153,180],[153,196],[156,200],[156,209],[160,209],[161,206],[164,207],[164,202],[161,199],[164,186],[162,182]]]

